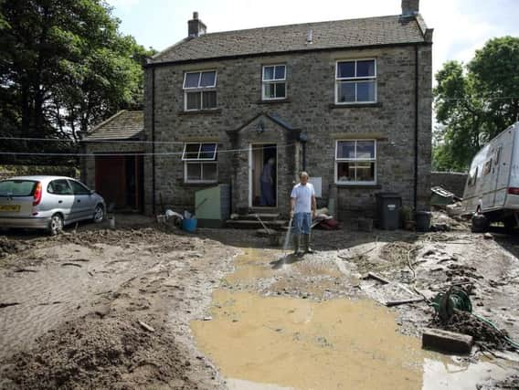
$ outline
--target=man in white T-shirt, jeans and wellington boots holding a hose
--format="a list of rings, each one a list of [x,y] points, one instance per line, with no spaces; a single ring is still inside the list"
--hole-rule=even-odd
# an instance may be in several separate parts
[[[300,183],[295,184],[291,191],[291,218],[293,218],[295,232],[292,237],[294,255],[299,255],[300,238],[304,253],[312,253],[310,248],[310,226],[315,214],[315,191],[308,183],[308,174],[299,175]]]

